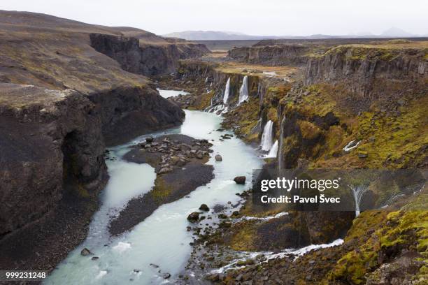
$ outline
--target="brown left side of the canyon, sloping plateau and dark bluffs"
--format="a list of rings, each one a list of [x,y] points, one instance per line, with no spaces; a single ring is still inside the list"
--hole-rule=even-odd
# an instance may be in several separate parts
[[[105,145],[177,126],[185,115],[148,78],[95,50],[90,35],[164,46],[163,38],[8,11],[0,27],[0,268],[53,268],[97,210]],[[176,57],[167,52],[157,60],[169,68]]]

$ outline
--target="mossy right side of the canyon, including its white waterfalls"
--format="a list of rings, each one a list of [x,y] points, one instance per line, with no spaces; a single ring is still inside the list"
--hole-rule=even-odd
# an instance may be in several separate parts
[[[266,169],[426,168],[426,42],[296,45],[261,41],[229,50],[222,61],[180,61],[164,84],[186,86],[190,94],[173,101],[221,115],[225,129],[269,151]],[[240,103],[244,78],[249,100]],[[361,196],[354,191],[355,212],[267,211],[247,198],[224,226],[199,235],[187,266],[221,284],[423,284],[426,227],[418,219],[427,219],[427,196],[425,184],[419,187],[418,194],[401,201],[388,187]],[[382,210],[368,210],[373,208]],[[284,211],[286,216],[273,216]],[[294,263],[284,251],[334,244],[337,238],[343,244],[311,251]],[[266,260],[272,251],[284,255]],[[394,273],[406,256],[413,257]]]

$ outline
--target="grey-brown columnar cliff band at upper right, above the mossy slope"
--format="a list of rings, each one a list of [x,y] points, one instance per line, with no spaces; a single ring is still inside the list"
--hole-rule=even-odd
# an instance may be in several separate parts
[[[338,46],[306,66],[306,85],[343,85],[362,96],[404,96],[427,90],[427,50]]]

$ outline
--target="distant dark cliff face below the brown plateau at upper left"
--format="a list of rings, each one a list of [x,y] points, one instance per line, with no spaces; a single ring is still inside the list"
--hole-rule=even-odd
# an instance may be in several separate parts
[[[147,76],[171,73],[179,59],[201,57],[209,52],[198,43],[150,45],[140,43],[138,38],[106,34],[90,34],[90,40],[95,50],[115,59],[125,71]]]

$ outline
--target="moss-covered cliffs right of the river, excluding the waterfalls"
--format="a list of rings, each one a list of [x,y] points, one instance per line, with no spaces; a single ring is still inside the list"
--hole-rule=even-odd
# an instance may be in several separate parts
[[[257,78],[258,96],[250,96],[248,103],[224,113],[224,126],[258,144],[264,125],[271,120],[273,140],[279,145],[276,159],[266,159],[271,168],[426,169],[426,47],[427,42],[388,41],[312,54],[306,69],[301,69],[304,80]],[[247,48],[243,50],[241,59],[245,61]],[[215,90],[213,101],[221,98],[227,78],[231,78],[231,96],[236,96],[242,73],[248,73],[234,65],[229,63],[222,71],[215,67],[210,73],[207,85]],[[188,66],[191,74],[207,70]],[[190,85],[187,80],[192,76],[183,74],[183,78]],[[360,201],[362,213],[357,219],[355,212],[289,212],[273,218],[272,212],[264,212],[248,200],[239,214],[230,217],[233,226],[201,239],[212,244],[208,251],[213,250],[215,256],[222,246],[236,251],[276,251],[336,238],[343,238],[344,243],[311,251],[297,260],[239,260],[240,269],[215,274],[211,280],[263,283],[278,277],[290,284],[425,284],[426,186],[405,197],[394,196],[394,191],[386,180],[373,185]],[[336,193],[345,194],[349,195]],[[380,210],[366,210],[369,205]],[[275,210],[287,212],[280,207]],[[234,218],[239,215],[269,219]],[[221,261],[215,258],[211,265],[219,268],[218,263]],[[206,264],[211,266],[208,258]]]

